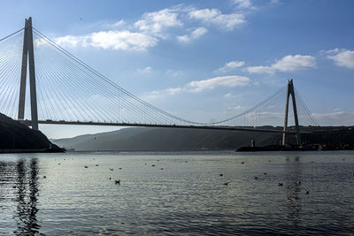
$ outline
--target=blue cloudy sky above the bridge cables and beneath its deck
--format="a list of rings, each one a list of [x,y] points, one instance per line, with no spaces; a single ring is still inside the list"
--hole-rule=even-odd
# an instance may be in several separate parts
[[[354,125],[354,1],[0,2],[0,37],[34,27],[144,101],[227,118],[288,79],[320,125]],[[40,126],[50,138],[117,127]]]

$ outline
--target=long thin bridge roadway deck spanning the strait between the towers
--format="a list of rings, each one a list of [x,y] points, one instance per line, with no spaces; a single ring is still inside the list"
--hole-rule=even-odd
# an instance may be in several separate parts
[[[31,120],[19,120],[26,126],[31,126]],[[65,121],[65,120],[38,120],[38,124],[45,125],[73,125],[73,126],[127,126],[127,127],[160,127],[160,128],[188,128],[188,129],[204,129],[204,130],[228,130],[228,131],[249,131],[249,132],[265,132],[265,133],[291,133],[296,134],[296,131],[283,131],[277,129],[259,129],[250,128],[250,126],[179,126],[179,125],[156,125],[156,124],[134,124],[134,123],[104,123],[91,121]],[[301,132],[307,133],[307,132]]]

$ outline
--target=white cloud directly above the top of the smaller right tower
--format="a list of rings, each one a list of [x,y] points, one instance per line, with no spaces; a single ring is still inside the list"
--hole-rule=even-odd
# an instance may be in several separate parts
[[[304,69],[310,69],[316,67],[316,58],[312,56],[303,55],[289,55],[282,57],[281,60],[276,61],[273,65],[264,66],[249,66],[246,68],[250,73],[270,73],[274,72],[294,72]]]

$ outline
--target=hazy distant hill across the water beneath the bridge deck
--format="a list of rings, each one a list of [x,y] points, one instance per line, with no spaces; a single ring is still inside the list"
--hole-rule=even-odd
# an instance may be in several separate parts
[[[264,136],[264,135],[263,135]],[[266,135],[275,138],[280,134]],[[59,147],[76,150],[165,150],[165,149],[233,149],[260,142],[259,133],[180,128],[124,128],[109,133],[86,134],[72,139],[53,140]]]

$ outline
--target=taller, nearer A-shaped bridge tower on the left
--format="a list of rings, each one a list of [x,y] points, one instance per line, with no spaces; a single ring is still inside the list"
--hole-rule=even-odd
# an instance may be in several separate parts
[[[32,32],[32,18],[25,19],[25,29],[23,37],[21,80],[19,87],[19,120],[25,117],[25,99],[27,83],[27,62],[29,74],[29,89],[31,99],[31,120],[32,129],[38,130],[37,95],[35,91],[35,53]]]

